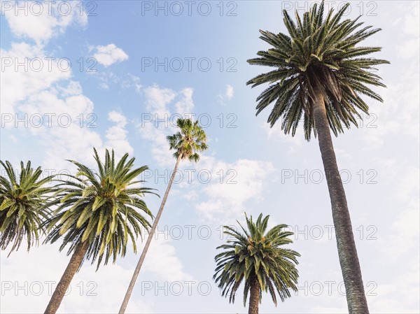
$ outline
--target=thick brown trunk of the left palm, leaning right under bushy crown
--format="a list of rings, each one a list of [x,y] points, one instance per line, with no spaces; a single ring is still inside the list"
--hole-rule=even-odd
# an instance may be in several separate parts
[[[87,248],[89,248],[89,241],[79,243],[76,246],[76,250],[74,250],[73,255],[71,255],[70,262],[67,265],[62,278],[59,280],[59,283],[55,288],[54,293],[52,294],[50,303],[48,303],[44,314],[54,314],[57,312],[59,305],[61,304],[62,299],[64,298],[64,294],[66,293],[67,288],[69,288],[71,280],[74,277],[74,274],[79,269],[80,264],[83,261],[83,257],[85,257]]]

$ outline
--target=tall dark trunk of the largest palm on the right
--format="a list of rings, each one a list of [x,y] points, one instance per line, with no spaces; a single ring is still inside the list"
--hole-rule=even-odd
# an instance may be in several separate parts
[[[328,191],[330,192],[332,220],[337,239],[339,264],[346,287],[349,314],[367,314],[369,309],[367,308],[356,243],[351,229],[349,208],[347,207],[346,194],[339,176],[337,159],[332,146],[323,94],[319,90],[316,91],[314,120]]]

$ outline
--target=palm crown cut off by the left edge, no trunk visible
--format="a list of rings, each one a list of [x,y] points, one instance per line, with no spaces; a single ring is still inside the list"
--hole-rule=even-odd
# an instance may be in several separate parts
[[[20,175],[16,178],[15,169],[6,161],[0,160],[7,178],[0,176],[0,248],[6,250],[13,242],[9,255],[18,250],[23,239],[27,238],[27,250],[38,245],[42,221],[49,215],[50,187],[52,176],[43,178],[41,167],[31,168],[20,162]]]

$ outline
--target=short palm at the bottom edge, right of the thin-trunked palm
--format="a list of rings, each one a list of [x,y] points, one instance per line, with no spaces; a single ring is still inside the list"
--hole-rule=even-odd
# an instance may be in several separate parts
[[[229,302],[235,302],[235,294],[244,281],[244,306],[248,292],[250,294],[249,314],[258,314],[262,291],[269,292],[276,306],[276,292],[281,301],[284,301],[290,297],[289,289],[297,291],[299,275],[295,264],[298,264],[296,257],[300,254],[281,248],[282,245],[293,242],[288,238],[293,232],[283,230],[288,227],[286,224],[278,224],[265,233],[268,218],[266,216],[262,219],[260,214],[254,223],[252,216],[246,217],[248,231],[238,222],[244,234],[225,226],[227,230],[223,233],[234,240],[219,246],[218,249],[225,251],[214,258],[217,268],[213,278],[218,287],[223,289],[222,296],[229,295]]]

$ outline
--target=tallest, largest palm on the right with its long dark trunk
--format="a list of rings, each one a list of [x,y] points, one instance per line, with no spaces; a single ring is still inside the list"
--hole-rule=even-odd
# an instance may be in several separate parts
[[[288,35],[260,30],[260,38],[272,48],[259,51],[258,58],[248,60],[249,64],[272,66],[274,70],[255,76],[247,85],[271,84],[257,98],[256,107],[258,115],[274,103],[267,121],[271,127],[282,117],[281,129],[294,136],[303,117],[307,141],[312,132],[318,136],[349,313],[365,314],[367,301],[330,129],[337,136],[343,132],[343,126],[349,129],[352,123],[357,127],[356,117],[361,118],[358,110],[368,114],[369,109],[360,94],[382,101],[366,85],[385,87],[372,70],[377,64],[389,62],[364,57],[379,52],[379,47],[356,47],[380,29],[359,29],[363,23],[357,22],[358,18],[341,21],[348,7],[346,3],[336,14],[330,10],[324,19],[323,2],[319,8],[314,4],[302,20],[296,12],[296,23],[283,10]]]

